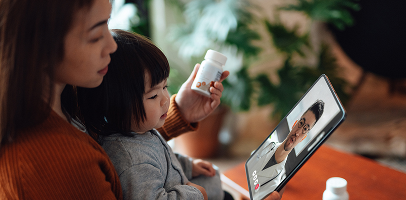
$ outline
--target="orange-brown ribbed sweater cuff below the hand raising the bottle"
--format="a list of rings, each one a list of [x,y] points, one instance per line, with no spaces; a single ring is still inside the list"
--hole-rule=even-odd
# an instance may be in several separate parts
[[[188,131],[197,130],[198,128],[198,123],[189,123],[183,118],[175,102],[175,97],[176,94],[173,94],[170,97],[168,117],[166,117],[165,123],[162,127],[157,128],[162,137],[166,140],[169,140]]]

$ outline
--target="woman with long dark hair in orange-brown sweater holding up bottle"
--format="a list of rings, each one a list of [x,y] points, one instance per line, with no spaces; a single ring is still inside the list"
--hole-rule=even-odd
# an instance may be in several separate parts
[[[0,0],[1,199],[122,198],[106,153],[71,124],[78,112],[66,87],[95,87],[107,73],[116,50],[110,10],[109,0]],[[190,96],[187,84],[162,131],[167,138],[220,103]],[[219,83],[213,92],[222,90]],[[186,128],[171,132],[179,126]]]

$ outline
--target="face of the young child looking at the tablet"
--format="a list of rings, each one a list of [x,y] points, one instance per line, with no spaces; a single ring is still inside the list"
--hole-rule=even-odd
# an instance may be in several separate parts
[[[167,80],[163,80],[159,84],[151,88],[151,76],[145,77],[145,93],[143,97],[146,119],[137,127],[132,124],[132,130],[137,133],[144,133],[152,128],[159,128],[165,122],[170,97],[166,88]]]

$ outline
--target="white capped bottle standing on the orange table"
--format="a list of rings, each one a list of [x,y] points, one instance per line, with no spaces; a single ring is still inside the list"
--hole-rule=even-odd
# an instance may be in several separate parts
[[[347,181],[341,177],[331,177],[326,181],[323,200],[348,200]]]

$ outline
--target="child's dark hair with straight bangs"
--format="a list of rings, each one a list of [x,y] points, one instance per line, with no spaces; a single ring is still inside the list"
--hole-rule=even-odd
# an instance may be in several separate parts
[[[103,82],[96,88],[77,88],[78,105],[88,130],[99,135],[131,135],[131,123],[146,120],[143,103],[145,75],[151,87],[169,76],[163,52],[148,38],[125,30],[111,30],[117,50]]]

